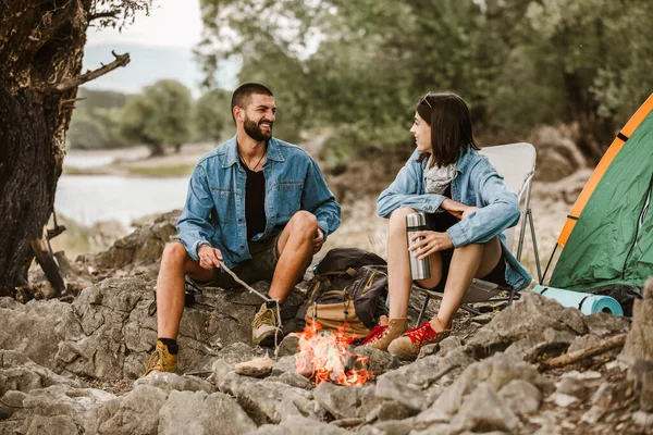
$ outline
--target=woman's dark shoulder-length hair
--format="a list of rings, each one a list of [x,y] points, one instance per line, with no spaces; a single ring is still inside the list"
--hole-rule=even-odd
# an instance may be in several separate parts
[[[431,164],[445,166],[457,162],[467,146],[479,149],[473,141],[469,108],[457,95],[429,92],[415,110],[431,126]],[[420,157],[420,161],[427,156]]]

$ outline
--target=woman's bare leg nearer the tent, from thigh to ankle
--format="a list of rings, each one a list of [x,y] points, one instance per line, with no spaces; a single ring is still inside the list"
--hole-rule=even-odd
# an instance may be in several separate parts
[[[431,321],[435,331],[447,327],[460,307],[465,294],[469,289],[471,279],[486,276],[502,259],[501,243],[494,237],[486,244],[470,244],[454,250],[452,264],[449,266],[446,284],[444,285],[444,297],[440,304],[438,322]],[[392,303],[392,299],[391,299]]]

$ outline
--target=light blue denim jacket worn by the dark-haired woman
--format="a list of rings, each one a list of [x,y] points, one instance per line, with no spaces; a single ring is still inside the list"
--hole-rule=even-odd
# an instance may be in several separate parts
[[[419,156],[420,152],[416,150],[395,181],[381,192],[377,202],[380,216],[390,217],[399,207],[426,213],[446,213],[440,207],[444,196],[426,194],[424,169],[429,159],[419,162]],[[479,210],[447,229],[454,247],[486,243],[498,235],[506,260],[506,283],[515,289],[527,287],[531,276],[506,248],[503,234],[504,229],[517,225],[519,221],[517,195],[506,189],[503,177],[488,158],[470,147],[458,159],[456,170],[452,181],[452,199],[478,207]]]

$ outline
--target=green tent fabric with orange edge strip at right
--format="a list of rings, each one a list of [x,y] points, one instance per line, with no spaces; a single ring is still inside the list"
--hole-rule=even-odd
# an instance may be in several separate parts
[[[621,130],[579,197],[576,221],[551,278],[551,286],[590,291],[605,285],[642,287],[653,274],[653,96]],[[632,125],[632,121],[638,122]],[[629,133],[629,134],[626,134]],[[616,147],[615,147],[616,145]],[[616,149],[616,151],[615,151]],[[601,167],[600,167],[601,166]],[[597,177],[594,175],[597,174]],[[579,204],[577,201],[577,204]],[[577,207],[575,206],[575,209]],[[584,207],[583,207],[584,206]],[[569,225],[565,225],[568,229]]]

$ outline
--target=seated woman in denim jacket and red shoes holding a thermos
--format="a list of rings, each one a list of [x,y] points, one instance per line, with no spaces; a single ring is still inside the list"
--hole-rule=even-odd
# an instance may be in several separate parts
[[[387,266],[390,320],[364,344],[412,360],[419,349],[452,331],[452,318],[475,277],[515,289],[529,273],[505,246],[502,232],[517,224],[519,203],[476,146],[469,109],[453,94],[428,94],[417,104],[410,128],[417,149],[395,181],[379,197],[377,210],[390,217]],[[406,215],[428,213],[429,229],[408,250]],[[430,257],[431,277],[416,283],[433,288],[445,281],[438,314],[407,330],[412,279],[408,256]]]

